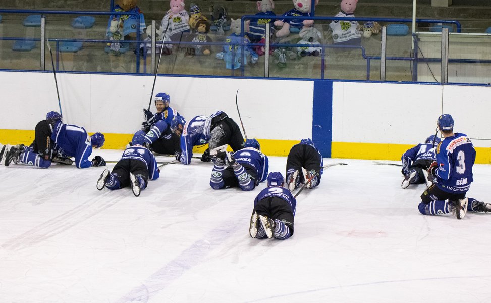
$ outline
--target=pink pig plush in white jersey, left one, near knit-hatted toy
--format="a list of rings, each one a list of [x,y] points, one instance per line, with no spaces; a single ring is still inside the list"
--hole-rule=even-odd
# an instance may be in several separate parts
[[[170,0],[171,9],[163,16],[160,28],[169,35],[171,41],[181,41],[189,33],[189,14],[184,9],[184,0]]]

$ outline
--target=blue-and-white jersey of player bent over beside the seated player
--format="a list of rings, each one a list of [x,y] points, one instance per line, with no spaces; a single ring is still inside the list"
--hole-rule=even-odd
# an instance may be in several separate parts
[[[193,119],[187,121],[181,134],[181,158],[179,161],[183,164],[191,163],[193,157],[193,146],[203,145],[208,143],[211,134],[211,120],[222,114],[222,111],[217,111],[207,116],[196,116]]]

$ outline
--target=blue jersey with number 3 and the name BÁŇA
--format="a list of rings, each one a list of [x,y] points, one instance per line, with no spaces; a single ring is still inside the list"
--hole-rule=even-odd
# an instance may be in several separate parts
[[[436,183],[442,190],[461,193],[469,190],[472,183],[472,166],[476,150],[469,137],[455,133],[437,146],[438,169]]]

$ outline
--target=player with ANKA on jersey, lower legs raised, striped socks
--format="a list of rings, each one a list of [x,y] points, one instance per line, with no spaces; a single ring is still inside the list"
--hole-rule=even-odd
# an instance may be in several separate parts
[[[226,151],[227,145],[210,151],[214,163],[210,178],[211,188],[240,187],[243,191],[249,191],[266,179],[269,160],[261,153],[261,145],[256,139],[247,139],[244,146],[234,154]],[[229,162],[227,168],[226,159]]]

